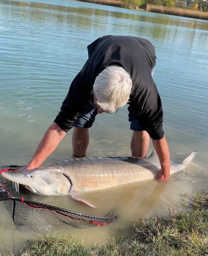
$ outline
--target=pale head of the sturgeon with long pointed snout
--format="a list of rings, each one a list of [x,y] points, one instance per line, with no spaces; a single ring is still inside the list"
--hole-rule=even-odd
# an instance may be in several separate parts
[[[71,188],[69,177],[55,165],[22,173],[2,172],[2,176],[12,182],[25,185],[25,188],[37,195],[67,195]]]

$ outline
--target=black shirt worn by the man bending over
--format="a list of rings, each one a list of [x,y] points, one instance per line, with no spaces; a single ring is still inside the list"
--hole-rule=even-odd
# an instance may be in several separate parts
[[[152,139],[162,139],[161,98],[151,76],[156,64],[154,46],[143,38],[106,35],[91,43],[87,49],[89,58],[72,81],[54,122],[68,132],[89,103],[96,77],[106,66],[117,65],[131,76],[133,85],[128,104],[138,112],[140,127]]]

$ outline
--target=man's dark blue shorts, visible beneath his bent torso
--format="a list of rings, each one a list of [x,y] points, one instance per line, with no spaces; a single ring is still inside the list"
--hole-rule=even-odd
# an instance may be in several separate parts
[[[142,129],[139,126],[139,122],[137,121],[137,113],[136,111],[129,106],[129,122],[130,129],[133,131],[142,131]],[[104,114],[104,113],[103,113]],[[82,128],[90,128],[92,127],[92,124],[94,123],[95,117],[97,115],[97,108],[92,106],[92,104],[88,104],[85,106],[83,114],[80,115],[77,122],[74,124],[74,127],[82,127]]]

